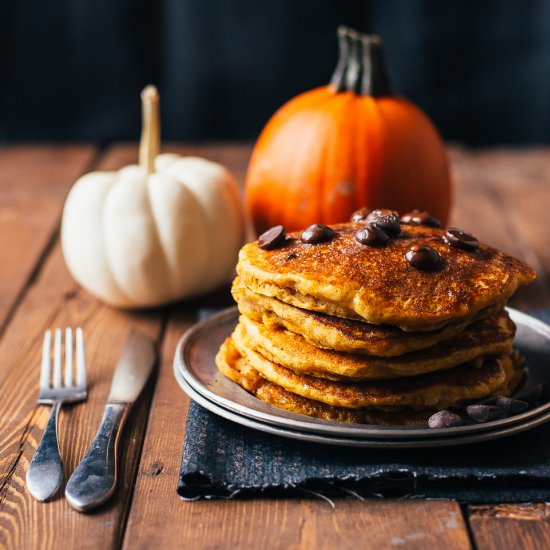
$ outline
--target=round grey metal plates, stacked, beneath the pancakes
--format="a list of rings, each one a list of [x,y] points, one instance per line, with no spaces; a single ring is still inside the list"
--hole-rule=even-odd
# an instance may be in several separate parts
[[[508,311],[517,325],[514,345],[527,358],[529,377],[538,381],[546,380],[550,376],[550,327],[519,311],[513,309]],[[210,407],[204,404],[206,408],[210,410],[215,408],[213,412],[217,414],[224,411],[227,413],[226,417],[231,415],[231,420],[240,421],[241,424],[246,420],[246,425],[254,424],[252,427],[257,429],[261,429],[260,426],[265,428],[269,425],[270,429],[264,429],[264,431],[287,437],[292,437],[289,435],[292,432],[302,435],[307,433],[308,437],[309,434],[316,434],[323,439],[337,438],[342,441],[344,439],[379,439],[382,440],[380,441],[382,444],[387,443],[388,440],[404,442],[438,438],[445,441],[450,438],[459,438],[462,443],[469,443],[474,434],[481,436],[486,433],[487,436],[493,434],[492,437],[495,437],[498,431],[502,435],[508,435],[538,425],[550,418],[550,403],[546,403],[521,415],[494,422],[433,430],[415,426],[346,424],[278,409],[247,393],[219,373],[215,366],[214,357],[219,346],[233,331],[237,318],[238,311],[233,307],[196,324],[187,331],[176,350],[174,371],[184,391],[187,393],[193,391],[194,395],[191,396],[193,399],[200,396],[202,404],[204,402],[210,404]],[[199,401],[199,399],[196,400]],[[462,441],[465,437],[468,437],[468,440]],[[477,440],[479,439],[473,441]],[[430,445],[432,444],[435,443],[432,441]]]

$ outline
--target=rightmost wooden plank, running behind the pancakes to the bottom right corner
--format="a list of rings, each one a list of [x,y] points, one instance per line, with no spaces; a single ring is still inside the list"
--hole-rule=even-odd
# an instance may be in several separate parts
[[[520,309],[550,307],[550,149],[453,152],[457,224],[523,258],[538,279],[512,300]],[[550,546],[550,505],[469,506],[470,530],[479,548]]]

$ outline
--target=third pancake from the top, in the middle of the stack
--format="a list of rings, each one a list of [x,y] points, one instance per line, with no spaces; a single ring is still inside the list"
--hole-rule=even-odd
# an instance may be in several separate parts
[[[450,369],[487,355],[506,355],[515,325],[505,311],[478,321],[452,340],[399,357],[374,357],[312,346],[298,334],[241,316],[232,338],[298,374],[329,380],[382,380]],[[481,364],[481,361],[480,361]],[[480,366],[480,364],[478,366]]]

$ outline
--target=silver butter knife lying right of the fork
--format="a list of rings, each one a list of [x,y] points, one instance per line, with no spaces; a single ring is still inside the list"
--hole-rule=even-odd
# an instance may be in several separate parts
[[[65,497],[76,510],[91,510],[113,494],[120,433],[132,403],[151,374],[155,357],[153,341],[141,332],[132,331],[113,375],[99,430],[65,488]]]

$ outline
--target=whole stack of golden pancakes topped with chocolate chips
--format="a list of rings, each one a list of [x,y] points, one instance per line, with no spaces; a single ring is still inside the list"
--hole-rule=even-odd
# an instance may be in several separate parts
[[[350,223],[244,246],[241,317],[218,368],[281,408],[346,422],[423,423],[510,395],[524,362],[504,305],[533,270],[425,212],[356,212]]]

